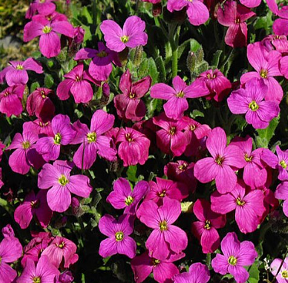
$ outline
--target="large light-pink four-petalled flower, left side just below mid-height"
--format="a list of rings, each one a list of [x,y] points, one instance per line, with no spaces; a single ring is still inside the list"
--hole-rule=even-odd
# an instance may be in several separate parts
[[[88,198],[92,187],[84,175],[70,176],[73,163],[56,160],[46,163],[38,174],[38,187],[48,190],[47,202],[52,211],[64,212],[71,204],[71,193]]]

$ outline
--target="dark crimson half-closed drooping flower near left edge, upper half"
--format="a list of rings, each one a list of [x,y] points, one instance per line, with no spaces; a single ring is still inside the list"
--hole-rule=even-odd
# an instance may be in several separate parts
[[[26,109],[30,116],[36,115],[43,121],[54,117],[55,106],[49,96],[53,91],[49,88],[37,88],[27,98]]]

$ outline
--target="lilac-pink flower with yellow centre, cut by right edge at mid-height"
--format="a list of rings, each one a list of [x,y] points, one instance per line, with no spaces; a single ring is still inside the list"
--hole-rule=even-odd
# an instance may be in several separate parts
[[[279,171],[278,179],[288,181],[288,150],[282,151],[279,145],[276,146],[277,156],[269,149],[264,148],[261,159],[271,168]]]

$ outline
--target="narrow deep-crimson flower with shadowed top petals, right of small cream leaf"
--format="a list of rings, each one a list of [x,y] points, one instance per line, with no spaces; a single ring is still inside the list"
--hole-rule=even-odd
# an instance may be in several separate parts
[[[202,252],[213,253],[220,244],[220,236],[216,229],[225,226],[226,216],[213,212],[210,203],[205,199],[195,202],[193,212],[199,221],[192,223],[192,232],[200,240]]]

